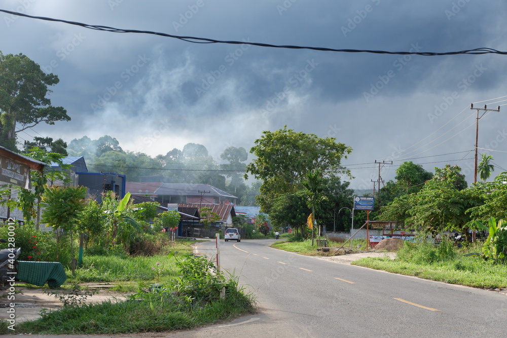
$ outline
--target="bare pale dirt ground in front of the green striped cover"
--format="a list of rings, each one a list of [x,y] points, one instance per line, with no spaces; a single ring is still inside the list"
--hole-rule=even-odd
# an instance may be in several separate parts
[[[85,284],[83,284],[85,285]],[[103,284],[86,284],[90,289],[96,289],[99,292],[92,296],[88,296],[86,303],[102,303],[107,299],[125,299],[126,295],[108,290],[109,287]],[[15,287],[16,292],[9,294],[9,291],[0,291],[0,318],[9,319],[12,315],[10,309],[14,308],[16,323],[35,320],[41,317],[42,309],[48,311],[56,310],[62,307],[61,302],[53,295],[45,294],[46,292],[59,292],[61,289],[32,289],[27,287]],[[14,306],[11,306],[14,304]]]

